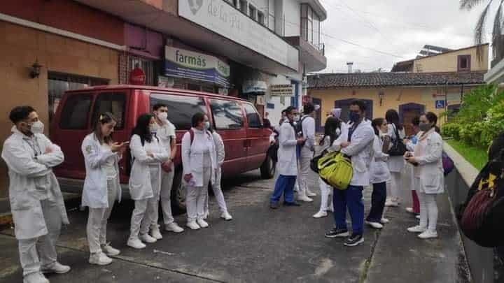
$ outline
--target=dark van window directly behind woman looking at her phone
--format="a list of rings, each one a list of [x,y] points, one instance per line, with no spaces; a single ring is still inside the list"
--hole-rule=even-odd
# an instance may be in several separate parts
[[[98,94],[96,101],[94,101],[94,109],[91,125],[92,127],[94,127],[94,125],[98,120],[98,115],[100,115],[100,113],[110,112],[118,119],[116,129],[124,129],[125,110],[126,110],[125,92],[105,92]]]

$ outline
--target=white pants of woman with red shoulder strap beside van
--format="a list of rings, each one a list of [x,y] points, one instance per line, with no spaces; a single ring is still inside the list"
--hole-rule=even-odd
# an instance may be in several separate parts
[[[208,185],[212,174],[211,167],[203,168],[203,187],[187,186],[186,206],[188,222],[203,219],[208,198]]]

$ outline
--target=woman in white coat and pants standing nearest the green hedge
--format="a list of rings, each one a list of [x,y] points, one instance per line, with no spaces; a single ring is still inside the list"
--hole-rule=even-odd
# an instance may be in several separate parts
[[[442,166],[443,140],[435,131],[437,116],[428,112],[420,117],[421,136],[414,152],[406,152],[405,159],[413,164],[416,192],[420,200],[420,224],[407,230],[420,233],[421,239],[437,238],[436,197],[444,192],[444,170]]]

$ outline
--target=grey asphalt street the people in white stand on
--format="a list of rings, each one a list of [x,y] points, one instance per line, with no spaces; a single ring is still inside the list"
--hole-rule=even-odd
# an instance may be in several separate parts
[[[311,186],[318,191],[315,175]],[[469,282],[468,267],[447,196],[440,196],[440,238],[419,240],[406,232],[416,224],[404,208],[391,208],[382,231],[365,230],[365,242],[344,247],[342,240],[324,238],[332,215],[311,217],[320,198],[299,208],[270,210],[274,180],[260,180],[258,171],[225,180],[224,194],[231,222],[219,219],[211,198],[210,228],[163,233],[146,249],[126,246],[131,201],[114,208],[108,239],[121,250],[109,266],[91,266],[85,238],[87,212],[73,201],[67,205],[71,224],[62,230],[59,261],[72,268],[50,275],[50,282]],[[403,191],[409,201],[409,190]],[[371,190],[365,190],[366,211]],[[185,224],[185,215],[176,217]],[[349,219],[349,217],[348,217]],[[22,282],[12,228],[0,233],[0,282]]]

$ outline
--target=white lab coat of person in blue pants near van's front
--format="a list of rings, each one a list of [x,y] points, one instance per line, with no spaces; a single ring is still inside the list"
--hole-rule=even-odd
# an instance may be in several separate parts
[[[297,176],[297,139],[293,126],[284,122],[280,127],[278,163],[276,169],[279,175]]]

